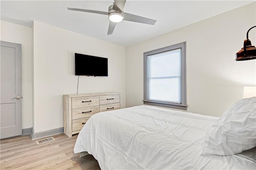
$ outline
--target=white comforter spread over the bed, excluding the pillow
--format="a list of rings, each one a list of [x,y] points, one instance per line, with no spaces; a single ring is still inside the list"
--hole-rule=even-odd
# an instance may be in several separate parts
[[[242,154],[201,155],[216,120],[149,106],[97,113],[79,133],[74,153],[87,151],[101,169],[255,170],[256,161]]]

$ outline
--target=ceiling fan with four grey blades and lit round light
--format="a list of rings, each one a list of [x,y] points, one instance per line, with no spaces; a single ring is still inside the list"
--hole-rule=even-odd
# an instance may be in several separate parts
[[[113,33],[114,28],[116,27],[116,23],[121,22],[122,20],[139,22],[139,23],[150,24],[150,25],[154,25],[156,23],[156,20],[152,20],[150,18],[145,18],[142,16],[137,16],[134,14],[128,14],[126,12],[123,12],[125,2],[126,0],[114,0],[113,5],[110,5],[108,7],[108,12],[84,10],[84,9],[78,9],[78,8],[68,8],[68,10],[108,15],[108,18],[110,20],[109,26],[108,26],[108,35],[111,35]]]

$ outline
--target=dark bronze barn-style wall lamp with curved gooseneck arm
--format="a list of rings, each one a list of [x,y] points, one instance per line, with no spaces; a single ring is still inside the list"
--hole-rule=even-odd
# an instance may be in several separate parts
[[[254,28],[256,26],[253,26]],[[244,40],[244,47],[240,51],[236,53],[236,61],[243,61],[249,59],[256,59],[256,47],[252,45],[251,41],[248,39],[248,33],[250,28],[246,34],[246,40]]]

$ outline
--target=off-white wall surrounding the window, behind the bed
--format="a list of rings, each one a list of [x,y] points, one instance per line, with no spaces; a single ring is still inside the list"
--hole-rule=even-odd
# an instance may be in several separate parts
[[[246,32],[256,25],[255,6],[252,3],[126,47],[126,107],[143,104],[143,53],[186,42],[188,112],[222,116],[242,99],[244,85],[256,85],[256,60],[235,61]],[[249,33],[252,45],[256,45],[255,32]]]

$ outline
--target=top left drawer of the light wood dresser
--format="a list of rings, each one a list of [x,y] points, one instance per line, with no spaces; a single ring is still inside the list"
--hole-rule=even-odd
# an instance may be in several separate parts
[[[99,105],[99,96],[72,97],[72,109]]]

